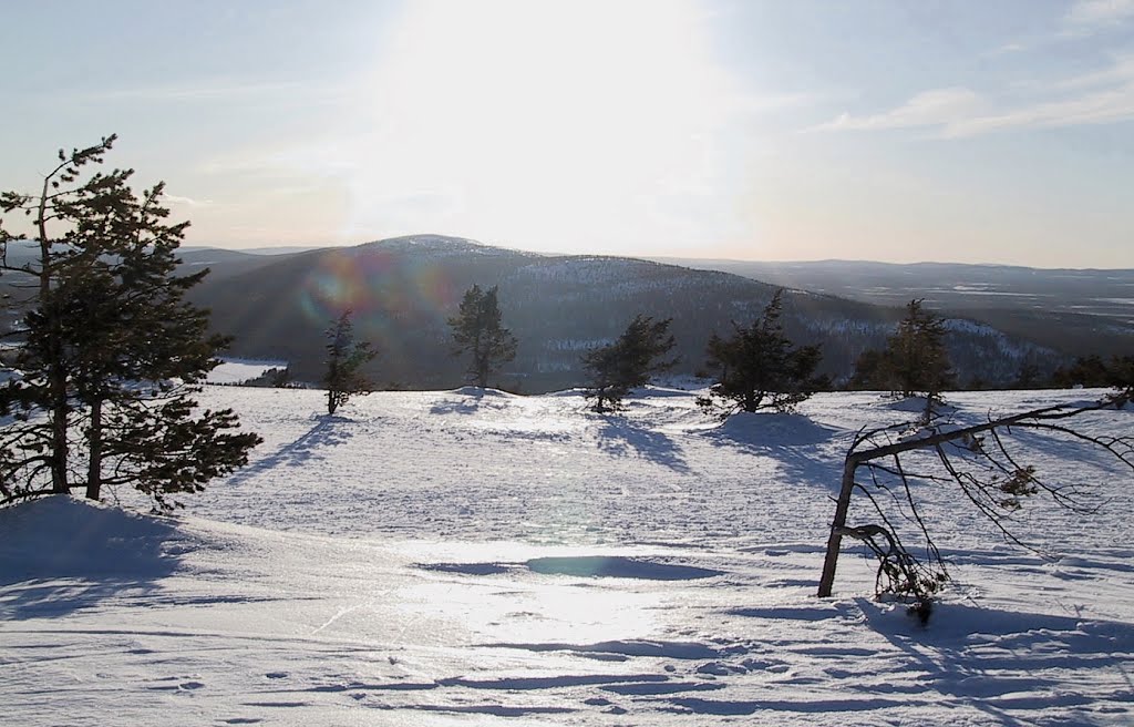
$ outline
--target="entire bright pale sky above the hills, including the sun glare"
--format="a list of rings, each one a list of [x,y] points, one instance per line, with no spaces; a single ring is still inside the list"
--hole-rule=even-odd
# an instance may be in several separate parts
[[[189,243],[1134,268],[1134,0],[5,0],[59,146]]]

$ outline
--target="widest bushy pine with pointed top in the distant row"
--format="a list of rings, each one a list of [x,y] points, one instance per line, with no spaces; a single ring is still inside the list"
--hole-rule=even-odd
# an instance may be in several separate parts
[[[717,411],[725,401],[725,416],[763,408],[788,412],[827,386],[827,378],[815,374],[819,346],[796,347],[784,331],[782,294],[777,290],[751,326],[733,323],[731,338],[713,333],[709,339],[706,367],[716,383],[710,396],[699,399],[703,408]]]

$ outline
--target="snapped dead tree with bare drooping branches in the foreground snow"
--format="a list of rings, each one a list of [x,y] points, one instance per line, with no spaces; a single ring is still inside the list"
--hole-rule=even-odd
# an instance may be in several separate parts
[[[1025,498],[1046,494],[1061,507],[1089,514],[1098,504],[1090,491],[1047,482],[1035,467],[1021,462],[1006,436],[1015,430],[1072,439],[1109,453],[1124,470],[1134,472],[1134,436],[1089,434],[1074,426],[1075,417],[1090,412],[1122,408],[1132,399],[1127,388],[1088,405],[1057,405],[1009,416],[992,417],[972,426],[951,428],[930,421],[860,431],[843,465],[835,518],[827,540],[827,556],[819,582],[819,595],[829,597],[844,538],[862,541],[879,561],[878,595],[907,599],[911,608],[928,618],[934,593],[949,580],[933,536],[922,517],[922,505],[912,482],[955,485],[970,505],[991,521],[1006,539],[1023,544],[1012,533],[1007,519],[1023,507]],[[914,451],[933,455],[929,470],[909,470],[904,457]],[[872,506],[879,523],[847,525],[852,497],[858,493]],[[919,557],[902,540],[896,508],[904,510],[924,542]]]

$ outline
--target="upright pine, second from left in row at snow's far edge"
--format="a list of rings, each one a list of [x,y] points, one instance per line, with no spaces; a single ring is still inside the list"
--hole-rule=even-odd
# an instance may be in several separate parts
[[[500,323],[497,286],[481,290],[474,285],[466,290],[457,315],[449,319],[449,327],[457,344],[454,355],[472,356],[466,371],[469,383],[488,387],[489,377],[516,357],[516,337]]]

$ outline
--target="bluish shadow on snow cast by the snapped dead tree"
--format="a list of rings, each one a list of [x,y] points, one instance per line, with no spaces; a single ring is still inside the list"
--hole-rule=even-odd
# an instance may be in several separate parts
[[[911,658],[928,690],[980,710],[1000,725],[1024,725],[1012,712],[1090,709],[1094,693],[1061,688],[1068,670],[1123,671],[1134,651],[1134,624],[936,603],[929,623],[868,599],[855,599],[868,625]],[[1055,679],[1046,674],[1056,674]],[[1123,701],[1128,692],[1112,695]]]

